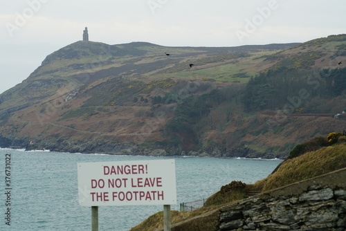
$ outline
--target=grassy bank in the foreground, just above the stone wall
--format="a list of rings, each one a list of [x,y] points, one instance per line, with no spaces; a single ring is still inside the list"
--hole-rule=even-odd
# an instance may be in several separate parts
[[[341,139],[340,139],[341,140]],[[253,185],[246,185],[241,181],[233,181],[228,185],[221,187],[204,203],[199,210],[190,212],[172,211],[172,223],[186,221],[192,217],[201,216],[212,210],[217,209],[228,203],[242,200],[246,196],[246,192],[254,190],[266,192],[277,187],[282,187],[298,181],[307,180],[315,176],[334,172],[338,169],[346,167],[346,137],[343,141],[329,147],[322,147],[316,151],[301,154],[295,158],[285,160],[277,171],[261,181],[257,181]],[[192,221],[196,222],[196,221]],[[132,228],[136,230],[157,230],[163,227],[163,212],[158,212],[149,216],[148,219]]]

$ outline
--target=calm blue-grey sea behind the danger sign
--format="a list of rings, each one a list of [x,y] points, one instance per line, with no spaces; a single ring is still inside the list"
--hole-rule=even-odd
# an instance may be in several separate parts
[[[10,206],[6,205],[6,156],[10,154]],[[176,163],[177,205],[208,198],[231,181],[255,183],[282,160],[170,157]],[[70,154],[0,149],[0,230],[91,230],[91,207],[78,205],[77,163],[157,160],[163,157]],[[8,172],[7,172],[8,173]],[[11,221],[6,225],[10,207]],[[163,206],[99,207],[99,230],[122,231],[162,211]]]

